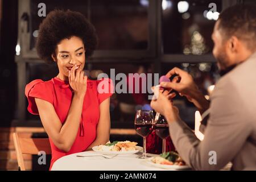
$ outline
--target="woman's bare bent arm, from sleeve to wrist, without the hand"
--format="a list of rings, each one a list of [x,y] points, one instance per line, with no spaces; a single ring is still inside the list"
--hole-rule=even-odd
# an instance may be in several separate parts
[[[64,125],[61,124],[53,105],[35,98],[43,127],[57,148],[68,152],[76,139],[80,125],[84,98],[74,96]]]

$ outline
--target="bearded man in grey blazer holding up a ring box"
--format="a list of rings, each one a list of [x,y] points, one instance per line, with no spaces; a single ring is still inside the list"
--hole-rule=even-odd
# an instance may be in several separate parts
[[[166,117],[177,152],[195,170],[219,170],[229,162],[233,170],[256,170],[255,10],[255,5],[229,7],[214,26],[213,55],[223,76],[210,103],[192,76],[179,68],[167,73],[168,77],[178,75],[172,82],[161,83],[187,97],[201,114],[209,111],[203,141],[181,121],[179,111],[169,100],[172,94],[153,88],[158,97],[151,101],[152,108]]]

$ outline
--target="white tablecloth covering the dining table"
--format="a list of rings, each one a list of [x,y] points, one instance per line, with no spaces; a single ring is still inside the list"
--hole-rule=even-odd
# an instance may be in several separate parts
[[[63,156],[56,160],[52,171],[159,171],[166,170],[156,168],[146,163],[146,159],[138,159],[141,153],[133,155],[117,155],[113,159],[105,159],[101,156],[89,156],[85,158],[76,155],[96,155],[94,151],[80,152]],[[154,154],[148,154],[154,156]]]

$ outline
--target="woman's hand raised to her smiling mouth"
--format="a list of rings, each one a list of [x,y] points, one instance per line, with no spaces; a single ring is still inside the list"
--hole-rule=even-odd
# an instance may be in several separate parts
[[[76,96],[84,98],[87,86],[87,77],[84,76],[84,71],[79,71],[77,65],[73,66],[68,74],[69,85],[74,90]],[[77,70],[76,70],[77,69]]]

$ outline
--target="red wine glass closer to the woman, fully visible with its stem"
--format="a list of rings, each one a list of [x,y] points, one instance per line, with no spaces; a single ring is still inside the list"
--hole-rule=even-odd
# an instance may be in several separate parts
[[[146,137],[153,130],[154,114],[152,110],[138,110],[135,119],[134,127],[138,135],[143,137],[143,154],[140,159],[147,159],[146,155]]]

